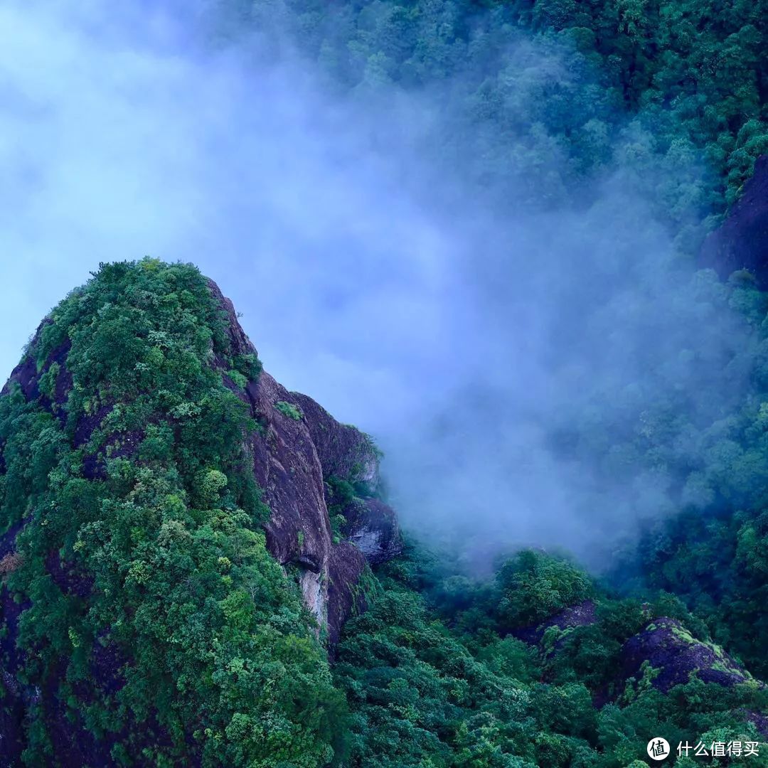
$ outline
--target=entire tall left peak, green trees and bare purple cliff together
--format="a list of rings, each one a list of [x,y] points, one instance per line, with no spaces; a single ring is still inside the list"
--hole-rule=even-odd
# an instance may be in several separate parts
[[[217,286],[102,265],[2,390],[0,473],[0,765],[331,759],[319,637],[366,561],[326,498],[380,511],[372,559],[396,521],[370,439],[263,372]]]

